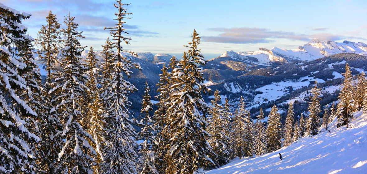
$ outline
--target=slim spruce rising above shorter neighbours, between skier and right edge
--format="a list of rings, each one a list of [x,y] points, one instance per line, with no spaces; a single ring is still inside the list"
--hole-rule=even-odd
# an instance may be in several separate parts
[[[312,137],[319,133],[320,125],[319,114],[321,112],[321,88],[317,88],[317,81],[315,81],[315,87],[311,89],[310,93],[312,96],[310,97],[310,104],[308,106],[308,112],[310,114],[308,115],[307,132]]]

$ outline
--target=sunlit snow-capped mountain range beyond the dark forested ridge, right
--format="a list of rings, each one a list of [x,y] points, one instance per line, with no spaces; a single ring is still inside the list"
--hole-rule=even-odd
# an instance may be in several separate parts
[[[250,70],[275,66],[289,62],[301,62],[319,59],[338,53],[356,53],[367,55],[367,45],[363,42],[335,42],[313,39],[298,49],[259,48],[258,51],[226,51],[217,58],[208,60],[203,67],[206,78],[213,82],[236,77]],[[230,75],[229,75],[230,74]]]

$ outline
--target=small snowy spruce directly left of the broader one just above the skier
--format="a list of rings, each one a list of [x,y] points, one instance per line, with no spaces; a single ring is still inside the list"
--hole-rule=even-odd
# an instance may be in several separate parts
[[[264,123],[264,112],[260,108],[260,114],[257,116],[257,121],[255,124],[255,137],[254,137],[254,152],[255,155],[263,155],[267,152],[266,147],[266,127]]]

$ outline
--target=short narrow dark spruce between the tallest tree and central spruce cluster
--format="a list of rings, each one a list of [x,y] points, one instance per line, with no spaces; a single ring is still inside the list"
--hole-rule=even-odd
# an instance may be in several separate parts
[[[142,116],[139,125],[142,129],[138,134],[137,140],[143,140],[141,148],[139,150],[140,164],[139,164],[139,174],[158,174],[155,165],[155,153],[152,147],[155,143],[155,138],[153,133],[154,130],[154,119],[150,115],[153,110],[153,103],[150,101],[151,97],[149,95],[150,87],[147,82],[145,82],[145,91],[143,95],[143,100],[141,102]]]

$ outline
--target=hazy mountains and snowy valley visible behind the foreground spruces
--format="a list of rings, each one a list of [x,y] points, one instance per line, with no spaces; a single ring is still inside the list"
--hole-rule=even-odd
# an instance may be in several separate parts
[[[100,52],[95,53],[97,58],[101,58]],[[320,86],[334,86],[336,90],[338,87],[335,86],[342,82],[340,77],[344,73],[345,63],[352,67],[353,74],[367,71],[366,55],[367,45],[363,42],[339,43],[313,39],[298,49],[274,47],[259,48],[252,52],[226,51],[221,56],[208,60],[201,68],[212,90],[218,89],[222,98],[228,98],[234,108],[239,98],[245,97],[247,106],[252,108],[251,113],[255,114],[259,107],[266,110],[273,104],[281,104],[292,97],[302,98],[300,96],[305,96],[303,93],[310,89],[315,80],[321,83]],[[159,74],[163,64],[168,64],[172,56],[164,53],[153,55],[150,52],[126,56],[139,63],[142,68],[141,71],[132,70],[130,78],[138,88],[129,97],[132,102],[131,111],[138,117],[145,82],[150,85],[153,100],[158,100],[154,96],[157,95]],[[337,99],[335,90],[329,91],[334,96],[324,100],[324,104]],[[210,103],[211,96],[204,98]],[[304,97],[300,101],[304,101]],[[304,110],[303,106],[298,111]]]

